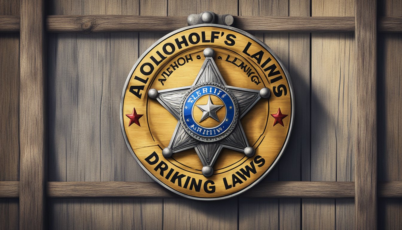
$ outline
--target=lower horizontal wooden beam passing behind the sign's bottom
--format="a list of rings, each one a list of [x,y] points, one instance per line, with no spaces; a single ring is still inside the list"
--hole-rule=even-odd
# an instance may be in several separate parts
[[[354,182],[275,181],[263,182],[243,197],[354,197]],[[48,197],[177,197],[156,182],[47,182]],[[0,198],[17,198],[18,181],[0,181]],[[402,197],[402,181],[379,182],[378,196]]]

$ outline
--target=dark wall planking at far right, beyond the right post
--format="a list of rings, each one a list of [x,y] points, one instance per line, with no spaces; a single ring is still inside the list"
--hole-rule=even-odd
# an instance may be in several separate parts
[[[402,16],[402,2],[386,0],[378,2],[379,17]],[[381,22],[377,28],[380,29]],[[378,35],[378,196],[401,197],[402,181],[402,34]],[[392,182],[394,181],[394,182]],[[398,182],[396,182],[398,181]],[[392,186],[394,185],[394,186]],[[383,189],[381,189],[383,188]],[[388,193],[388,194],[384,194]],[[378,200],[378,229],[402,228],[401,199]]]

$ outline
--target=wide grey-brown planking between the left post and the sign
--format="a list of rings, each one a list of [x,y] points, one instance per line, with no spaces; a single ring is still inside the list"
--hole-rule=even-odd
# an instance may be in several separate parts
[[[131,0],[56,0],[48,7],[55,15],[139,14],[139,2]],[[129,153],[119,120],[138,34],[52,34],[49,40],[49,180],[152,181]],[[49,206],[49,228],[160,229],[162,206],[162,199],[57,200]]]

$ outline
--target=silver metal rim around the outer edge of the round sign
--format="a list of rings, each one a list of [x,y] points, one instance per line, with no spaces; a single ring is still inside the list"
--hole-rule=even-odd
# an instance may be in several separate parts
[[[124,122],[123,122],[123,103],[124,103],[125,92],[127,90],[128,84],[130,82],[131,75],[133,75],[133,72],[134,72],[135,68],[138,66],[138,64],[142,61],[142,59],[144,59],[144,57],[152,49],[155,48],[155,46],[160,44],[162,41],[164,41],[168,37],[171,37],[172,35],[174,35],[176,33],[180,33],[180,32],[186,31],[188,29],[193,29],[193,28],[197,28],[197,27],[217,27],[217,28],[223,28],[223,29],[228,29],[228,30],[231,30],[231,31],[235,31],[237,33],[240,33],[240,34],[246,36],[246,37],[249,37],[250,39],[252,39],[256,43],[258,43],[260,46],[262,46],[265,50],[267,50],[277,60],[278,64],[281,66],[281,68],[283,70],[283,73],[285,73],[285,77],[286,77],[286,80],[287,80],[287,83],[288,83],[288,86],[289,86],[290,100],[291,100],[291,111],[292,111],[292,113],[291,113],[291,120],[290,120],[290,124],[289,124],[289,131],[287,132],[285,143],[283,143],[281,151],[279,152],[279,154],[275,158],[274,162],[272,162],[271,166],[267,169],[267,171],[264,172],[264,174],[262,174],[256,180],[254,180],[254,182],[252,182],[252,184],[248,185],[246,188],[244,188],[244,189],[242,189],[240,191],[237,191],[236,193],[232,193],[230,195],[226,195],[226,196],[222,196],[222,197],[214,197],[214,198],[194,197],[194,196],[187,195],[185,193],[180,193],[179,191],[176,191],[176,190],[172,189],[171,187],[167,186],[162,181],[160,181],[158,178],[156,178],[150,171],[148,171],[147,168],[145,168],[145,166],[138,159],[137,155],[135,155],[135,153],[134,153],[133,149],[131,148],[131,145],[130,145],[128,139],[127,139],[127,135],[125,133],[125,128],[124,128]],[[271,170],[274,168],[274,166],[278,163],[279,159],[282,157],[283,152],[285,152],[286,147],[287,147],[287,145],[289,143],[290,135],[291,135],[291,132],[293,130],[293,122],[294,122],[294,116],[295,116],[294,115],[295,114],[295,102],[294,102],[293,86],[292,86],[291,79],[289,77],[289,71],[287,70],[287,68],[283,64],[282,60],[277,56],[277,54],[275,54],[275,52],[273,52],[273,50],[271,50],[271,48],[269,48],[269,46],[267,46],[267,44],[265,44],[263,41],[260,41],[254,35],[251,35],[250,33],[247,33],[246,31],[243,31],[241,29],[237,29],[237,28],[234,28],[234,27],[226,26],[226,25],[218,25],[218,24],[210,24],[209,23],[209,24],[191,25],[191,26],[183,27],[183,28],[177,29],[175,31],[172,31],[172,32],[166,34],[165,36],[161,37],[160,39],[158,39],[158,41],[156,41],[154,44],[152,44],[152,46],[150,46],[143,54],[141,54],[141,56],[139,56],[139,58],[135,62],[133,68],[131,68],[130,73],[128,74],[127,79],[126,79],[126,81],[124,83],[123,92],[121,93],[119,112],[120,112],[120,127],[121,127],[121,132],[122,132],[123,137],[124,137],[124,141],[125,141],[128,149],[129,149],[131,155],[133,155],[135,161],[139,164],[139,166],[142,168],[142,170],[144,170],[153,180],[158,182],[158,184],[162,185],[165,189],[167,189],[167,190],[169,190],[169,191],[171,191],[173,193],[176,193],[177,195],[180,195],[182,197],[188,198],[188,199],[199,200],[199,201],[218,201],[218,200],[224,200],[224,199],[229,199],[229,198],[232,198],[232,197],[236,197],[236,196],[248,191],[253,186],[258,184],[261,180],[263,180],[265,178],[265,176],[267,176],[269,174],[269,172],[271,172]]]

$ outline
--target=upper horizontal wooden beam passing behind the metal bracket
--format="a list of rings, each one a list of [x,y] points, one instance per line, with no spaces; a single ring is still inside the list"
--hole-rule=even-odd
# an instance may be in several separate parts
[[[170,32],[185,27],[187,17],[130,15],[49,15],[50,33]],[[354,17],[257,17],[235,16],[235,27],[248,32],[353,32]],[[18,32],[19,16],[0,16],[0,32]],[[378,31],[402,32],[402,17],[381,17]]]

